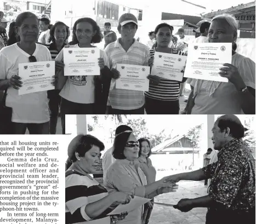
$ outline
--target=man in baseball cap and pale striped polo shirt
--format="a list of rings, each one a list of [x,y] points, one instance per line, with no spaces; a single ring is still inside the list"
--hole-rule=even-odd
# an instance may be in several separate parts
[[[134,38],[138,30],[138,20],[133,14],[121,15],[117,30],[121,38],[107,45],[105,49],[112,71],[107,114],[144,114],[143,91],[116,89],[115,80],[120,78],[117,64],[148,66],[149,48]]]

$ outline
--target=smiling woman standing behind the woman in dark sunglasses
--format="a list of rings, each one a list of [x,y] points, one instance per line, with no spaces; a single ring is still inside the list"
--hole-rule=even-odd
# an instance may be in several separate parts
[[[135,168],[140,168],[147,178],[147,184],[156,181],[156,169],[152,166],[150,141],[145,138],[138,140],[139,142],[139,158],[134,161]],[[152,202],[152,203],[151,203]],[[144,224],[149,223],[150,215],[153,210],[153,199],[144,205],[143,220]]]

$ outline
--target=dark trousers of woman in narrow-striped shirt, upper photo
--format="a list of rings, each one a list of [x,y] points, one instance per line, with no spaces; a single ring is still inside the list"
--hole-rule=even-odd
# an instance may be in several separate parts
[[[179,114],[179,100],[163,101],[145,96],[145,109],[147,114]]]

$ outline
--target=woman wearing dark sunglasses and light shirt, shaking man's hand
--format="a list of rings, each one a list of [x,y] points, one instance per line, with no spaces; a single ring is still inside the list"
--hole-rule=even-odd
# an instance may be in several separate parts
[[[153,198],[177,188],[173,182],[164,182],[165,177],[159,181],[147,183],[143,171],[135,168],[134,162],[139,157],[139,142],[132,131],[124,131],[115,137],[113,157],[116,161],[107,169],[104,180],[104,186],[109,193],[121,191],[133,193],[138,197]],[[143,224],[143,206],[130,211],[126,219],[120,223]]]

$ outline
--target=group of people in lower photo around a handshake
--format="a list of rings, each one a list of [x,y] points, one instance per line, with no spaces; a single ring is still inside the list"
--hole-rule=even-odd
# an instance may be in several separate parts
[[[102,160],[102,185],[90,174],[99,165],[104,143],[82,134],[70,142],[66,162],[66,223],[103,219],[118,204],[127,204],[133,196],[139,196],[151,200],[125,214],[109,217],[108,223],[147,224],[154,197],[169,192],[175,197],[180,180],[207,179],[211,179],[211,185],[206,196],[181,199],[174,208],[182,212],[208,208],[206,224],[255,223],[255,159],[242,140],[244,127],[236,116],[221,116],[213,125],[212,141],[214,150],[219,151],[218,160],[208,164],[208,159],[202,169],[158,181],[150,159],[150,141],[137,140],[133,131],[127,125],[116,128],[113,146]]]

